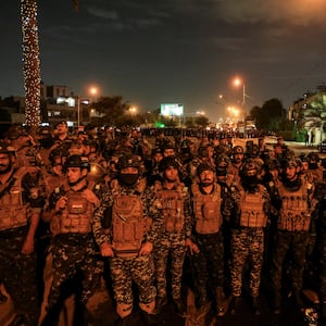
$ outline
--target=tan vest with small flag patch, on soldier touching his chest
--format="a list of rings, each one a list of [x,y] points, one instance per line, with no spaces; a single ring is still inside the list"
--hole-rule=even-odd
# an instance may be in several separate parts
[[[61,215],[54,216],[51,221],[50,228],[54,235],[91,233],[93,204],[83,197],[83,192],[72,190],[66,192],[67,204],[65,209]]]

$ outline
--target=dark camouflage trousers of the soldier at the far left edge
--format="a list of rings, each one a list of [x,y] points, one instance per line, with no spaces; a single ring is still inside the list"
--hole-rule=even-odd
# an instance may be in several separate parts
[[[36,279],[36,254],[21,253],[25,229],[0,231],[0,278],[12,298],[15,312],[24,315],[25,324],[37,325],[40,306]]]

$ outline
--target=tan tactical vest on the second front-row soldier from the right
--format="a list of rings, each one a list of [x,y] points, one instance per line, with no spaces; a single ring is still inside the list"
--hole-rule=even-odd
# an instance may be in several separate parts
[[[267,216],[264,212],[264,201],[261,192],[241,191],[240,226],[265,227]]]

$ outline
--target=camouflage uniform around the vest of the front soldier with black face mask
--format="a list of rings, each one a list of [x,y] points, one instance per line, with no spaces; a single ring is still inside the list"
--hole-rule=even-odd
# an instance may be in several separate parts
[[[149,221],[149,205],[153,199],[153,193],[146,188],[145,179],[138,180],[131,187],[121,185],[115,179],[112,183],[112,188],[103,195],[101,203],[95,212],[92,226],[97,243],[101,246],[108,242],[112,243],[114,248],[114,256],[110,258],[110,269],[117,303],[116,311],[123,318],[128,316],[133,310],[133,281],[138,287],[139,306],[145,312],[151,313],[154,309],[156,296],[152,254],[138,255],[140,248],[118,250],[117,244],[114,244],[114,240],[118,235],[114,231],[113,208],[115,204],[118,204],[118,200],[123,201],[124,198],[130,200],[130,198],[135,197],[141,202],[141,220],[143,223],[141,222],[140,224],[142,229],[145,229],[142,239],[139,239],[139,246],[146,241],[153,243],[156,238],[155,231],[151,227],[147,228],[143,225]],[[121,218],[123,218],[123,222],[127,222],[124,220],[124,216],[121,216]],[[125,243],[129,243],[128,238],[125,238]]]

